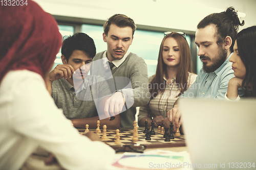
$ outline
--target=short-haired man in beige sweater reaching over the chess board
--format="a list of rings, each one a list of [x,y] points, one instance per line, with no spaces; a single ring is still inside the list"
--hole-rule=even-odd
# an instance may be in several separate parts
[[[102,62],[97,66],[94,64],[96,62],[93,62],[91,74],[102,77],[108,75],[105,73],[107,72],[105,65],[109,63],[114,78],[109,81],[110,87],[113,87],[111,90],[112,92],[121,91],[125,98],[125,108],[120,113],[120,127],[133,127],[136,107],[144,106],[150,101],[146,95],[149,90],[145,61],[136,54],[128,52],[136,25],[133,19],[123,14],[115,14],[105,22],[103,29],[103,40],[108,45],[108,49],[96,54],[93,58],[92,61]],[[109,79],[108,77],[104,78]]]

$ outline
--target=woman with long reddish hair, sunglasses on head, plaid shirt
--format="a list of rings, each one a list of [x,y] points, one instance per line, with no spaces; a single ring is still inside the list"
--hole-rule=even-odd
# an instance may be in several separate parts
[[[167,34],[160,45],[156,74],[149,78],[151,100],[140,107],[139,126],[167,126],[166,113],[173,108],[178,97],[196,81],[191,68],[191,54],[185,34]],[[153,119],[152,119],[153,117]]]

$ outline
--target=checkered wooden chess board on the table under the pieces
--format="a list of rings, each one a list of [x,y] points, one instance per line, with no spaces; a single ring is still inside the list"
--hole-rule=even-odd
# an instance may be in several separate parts
[[[120,133],[120,140],[121,140],[121,144],[135,144],[135,143],[139,143],[139,144],[143,144],[146,145],[146,148],[169,148],[169,147],[185,147],[185,139],[183,138],[183,135],[181,135],[180,137],[176,137],[174,134],[174,139],[170,139],[170,141],[164,141],[163,135],[160,133],[157,133],[155,135],[151,135],[151,140],[145,140],[145,133],[143,133],[143,129],[138,129],[138,133],[139,133],[139,140],[138,141],[132,141],[132,137],[133,137],[133,129],[123,129],[120,128],[119,129],[119,133]],[[90,131],[95,131],[95,129],[90,129]],[[79,132],[81,134],[83,134],[84,129],[80,129]],[[101,133],[100,136],[103,135],[102,129],[101,129]],[[106,136],[108,136],[109,140],[105,140],[103,142],[105,142],[106,144],[109,144],[111,147],[113,147],[114,145],[117,145],[115,143],[115,136],[116,136],[116,129],[107,129],[106,131]]]

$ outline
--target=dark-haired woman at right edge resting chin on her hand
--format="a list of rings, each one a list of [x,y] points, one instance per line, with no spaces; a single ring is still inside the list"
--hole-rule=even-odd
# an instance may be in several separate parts
[[[240,96],[256,97],[256,26],[240,31],[234,42],[232,62],[234,78],[229,80],[226,99],[239,100]]]

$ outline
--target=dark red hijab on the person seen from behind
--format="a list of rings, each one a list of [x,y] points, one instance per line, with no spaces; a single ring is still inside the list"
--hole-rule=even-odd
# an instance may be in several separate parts
[[[55,19],[35,2],[27,3],[0,6],[0,82],[10,70],[27,69],[44,78],[59,51]]]

